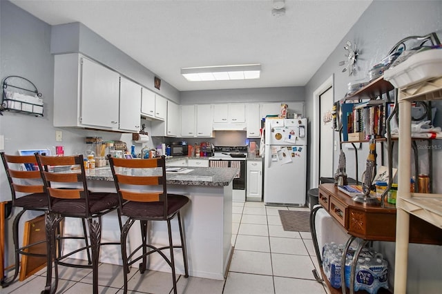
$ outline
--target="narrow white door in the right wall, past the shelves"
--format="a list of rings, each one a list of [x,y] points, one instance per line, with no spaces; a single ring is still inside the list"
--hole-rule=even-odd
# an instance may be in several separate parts
[[[319,96],[319,177],[333,177],[333,88]]]

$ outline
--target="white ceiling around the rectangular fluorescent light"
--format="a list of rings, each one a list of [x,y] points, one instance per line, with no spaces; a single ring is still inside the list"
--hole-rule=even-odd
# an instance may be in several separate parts
[[[57,25],[79,21],[177,90],[305,86],[372,0],[12,0]],[[260,79],[190,82],[180,69],[261,63]],[[338,65],[336,65],[338,66]]]

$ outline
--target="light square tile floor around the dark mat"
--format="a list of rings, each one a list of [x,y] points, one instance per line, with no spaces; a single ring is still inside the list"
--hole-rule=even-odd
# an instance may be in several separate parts
[[[178,293],[186,294],[325,294],[323,284],[311,273],[318,268],[311,234],[282,229],[278,210],[309,210],[265,206],[262,202],[233,203],[235,246],[225,281],[180,276]],[[92,293],[92,274],[87,269],[60,266],[57,293]],[[23,282],[15,282],[1,293],[39,293],[46,283],[46,269]],[[99,292],[123,293],[122,267],[99,266]],[[129,293],[173,293],[170,273],[131,271]]]

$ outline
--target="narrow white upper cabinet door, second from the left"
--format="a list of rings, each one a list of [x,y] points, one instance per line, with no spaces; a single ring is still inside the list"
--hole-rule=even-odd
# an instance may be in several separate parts
[[[121,77],[119,81],[119,129],[140,130],[141,86]]]

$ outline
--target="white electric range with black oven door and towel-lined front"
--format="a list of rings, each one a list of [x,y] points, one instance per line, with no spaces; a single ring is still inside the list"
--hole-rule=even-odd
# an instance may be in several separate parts
[[[209,166],[219,168],[239,168],[233,178],[233,202],[245,202],[247,179],[247,146],[215,146]]]

